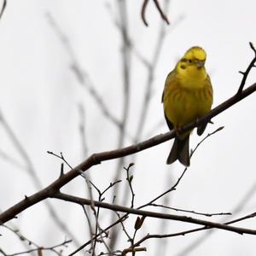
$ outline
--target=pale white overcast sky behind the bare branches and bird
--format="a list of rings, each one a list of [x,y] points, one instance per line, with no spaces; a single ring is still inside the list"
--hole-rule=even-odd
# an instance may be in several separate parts
[[[128,19],[132,42],[146,59],[151,60],[160,22],[164,21],[160,20],[154,5],[149,4],[146,13],[149,27],[144,26],[140,17],[143,1],[129,2]],[[112,14],[106,4],[110,6]],[[173,30],[171,26],[163,44],[154,73],[154,94],[142,140],[148,138],[148,131],[164,119],[160,97],[166,75],[189,47],[201,45],[207,50],[207,70],[212,78],[214,107],[236,93],[241,82],[238,71],[244,71],[253,58],[248,42],[256,44],[255,7],[253,0],[172,0],[168,17],[172,24],[178,24]],[[123,102],[121,41],[119,30],[113,25],[113,20],[119,17],[116,1],[9,0],[3,19],[0,20],[0,109],[26,149],[44,186],[58,177],[61,163],[46,154],[47,150],[63,152],[73,166],[84,160],[79,135],[79,103],[85,109],[85,137],[89,154],[117,147],[116,127],[102,116],[96,102],[80,86],[70,69],[72,60],[67,50],[49,26],[47,13],[61,26],[79,63],[89,74],[103,101],[118,118]],[[131,134],[137,127],[146,78],[146,69],[132,55],[131,111],[128,119],[128,131]],[[247,85],[253,84],[255,80],[256,70],[253,70]],[[255,99],[255,95],[248,96],[214,118],[214,125],[208,125],[207,132],[222,125],[225,128],[210,137],[195,153],[182,183],[170,195],[170,206],[198,212],[232,212],[246,195],[256,182]],[[150,136],[166,131],[167,126],[163,124]],[[22,163],[20,154],[1,125],[0,139],[1,152]],[[190,146],[195,148],[200,140],[194,133]],[[129,144],[131,141],[126,139],[125,145]],[[170,148],[171,143],[163,143],[137,154],[133,168],[137,207],[169,188],[183,172],[183,166],[179,163],[166,166]],[[125,159],[126,166],[129,165],[129,159]],[[116,161],[112,160],[91,168],[90,175],[94,183],[101,189],[106,188],[113,181],[115,166]],[[0,159],[0,170],[2,211],[20,201],[24,195],[31,195],[38,190],[26,170],[15,167],[3,157]],[[119,186],[123,188],[125,172],[121,178],[124,182]],[[64,190],[73,195],[84,195],[85,187],[82,180],[76,179]],[[110,195],[106,200],[111,201]],[[118,199],[121,201],[121,195]],[[254,200],[255,195],[234,218],[255,212]],[[51,202],[79,242],[87,241],[86,222],[81,209],[65,202]],[[178,214],[183,215],[182,212]],[[102,226],[108,224],[106,219],[104,217],[105,222],[102,220]],[[221,218],[206,219],[219,221]],[[131,227],[133,221],[134,218],[131,218]],[[255,222],[252,219],[236,226],[253,229]],[[166,230],[159,230],[159,222],[151,223],[147,219],[138,237],[148,232],[173,233],[196,227],[172,221],[166,223]],[[49,218],[44,203],[22,212],[11,224],[18,226],[22,234],[39,245],[51,246],[64,240],[65,234]],[[9,231],[1,228],[0,234],[3,235],[0,236],[0,247],[4,251],[15,253],[24,250],[22,242]],[[167,239],[166,255],[179,255],[197,237],[205,234],[201,232]],[[254,255],[254,244],[254,236],[239,236],[216,230],[201,246],[186,255]],[[148,252],[139,255],[157,255],[155,245],[158,245],[158,241],[146,242]],[[125,237],[119,241],[119,249],[128,246]],[[65,252],[72,252],[74,248],[69,246]]]

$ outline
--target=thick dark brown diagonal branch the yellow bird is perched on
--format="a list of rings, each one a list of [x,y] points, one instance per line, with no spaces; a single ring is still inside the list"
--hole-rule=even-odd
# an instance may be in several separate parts
[[[211,112],[207,113],[205,116],[201,117],[200,119],[196,120],[189,125],[185,125],[178,129],[179,133],[189,131],[195,128],[198,125],[202,125],[212,119],[214,116],[218,115],[218,113],[222,113],[225,109],[230,108],[237,102],[240,102],[245,97],[249,96],[256,90],[256,83],[249,86],[247,89],[242,90],[241,93],[236,94],[235,96],[230,97],[227,101],[223,102],[222,104],[218,105],[218,107],[213,108]],[[136,154],[142,150],[147,148],[152,148],[160,143],[164,143],[176,136],[175,131],[169,131],[164,134],[157,135],[152,137],[146,141],[141,143],[137,143],[125,148],[119,148],[112,151],[106,151],[98,154],[92,154],[87,160],[84,160],[79,166],[76,166],[71,171],[67,172],[64,175],[61,175],[55,182],[49,184],[48,187],[45,189],[40,190],[38,193],[31,195],[29,197],[25,197],[24,200],[15,204],[15,206],[10,207],[8,210],[0,214],[0,223],[5,223],[12,218],[15,218],[17,214],[24,211],[26,208],[31,207],[32,205],[38,203],[39,201],[43,201],[44,199],[55,195],[61,187],[65,184],[69,183],[73,178],[78,177],[80,172],[87,171],[91,166],[95,166],[100,164],[102,161],[105,160],[113,160],[120,157],[124,157],[129,154]]]

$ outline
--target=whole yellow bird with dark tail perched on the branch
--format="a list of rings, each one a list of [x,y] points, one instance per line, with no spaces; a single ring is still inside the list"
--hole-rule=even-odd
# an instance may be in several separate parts
[[[190,48],[176,67],[168,74],[162,95],[166,123],[170,130],[188,125],[212,108],[212,84],[205,68],[207,54],[199,46]],[[197,128],[201,135],[207,124]],[[189,166],[189,135],[191,131],[177,134],[166,160],[170,165],[179,160]]]

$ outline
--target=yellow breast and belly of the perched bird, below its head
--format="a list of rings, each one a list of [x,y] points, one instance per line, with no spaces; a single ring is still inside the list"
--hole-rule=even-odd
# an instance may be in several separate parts
[[[210,111],[211,81],[208,76],[183,79],[176,72],[171,73],[166,79],[163,103],[166,117],[175,128],[187,125]]]

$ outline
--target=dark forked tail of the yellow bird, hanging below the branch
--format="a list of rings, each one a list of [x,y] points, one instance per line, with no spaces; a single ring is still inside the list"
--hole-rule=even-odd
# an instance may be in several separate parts
[[[166,164],[171,165],[176,160],[179,160],[183,166],[190,165],[189,136],[186,136],[183,139],[178,137],[175,138],[171,152],[166,160]]]

